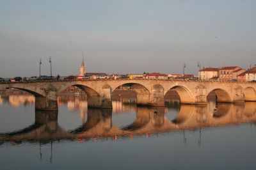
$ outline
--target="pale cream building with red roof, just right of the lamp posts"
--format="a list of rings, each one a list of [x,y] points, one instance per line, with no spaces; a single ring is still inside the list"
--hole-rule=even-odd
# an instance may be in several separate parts
[[[219,77],[219,68],[207,67],[199,70],[198,77],[200,80],[210,80],[214,77]]]

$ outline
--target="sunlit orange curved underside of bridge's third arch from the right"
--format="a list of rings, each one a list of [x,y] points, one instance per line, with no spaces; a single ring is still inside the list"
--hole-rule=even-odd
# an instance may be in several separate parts
[[[191,92],[188,88],[185,88],[184,86],[173,86],[170,89],[174,89],[177,91],[180,97],[180,104],[193,104],[193,97],[191,95]],[[166,93],[164,94],[166,95]]]

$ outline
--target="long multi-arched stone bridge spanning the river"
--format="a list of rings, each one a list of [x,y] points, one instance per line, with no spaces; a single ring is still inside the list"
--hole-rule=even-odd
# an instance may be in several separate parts
[[[181,104],[207,104],[207,95],[215,91],[217,102],[256,101],[256,83],[221,81],[170,81],[147,79],[44,81],[1,83],[0,89],[15,88],[35,95],[36,109],[56,111],[58,95],[76,86],[86,92],[88,107],[112,108],[112,92],[120,86],[136,91],[137,105],[164,106],[164,95],[177,91]]]

